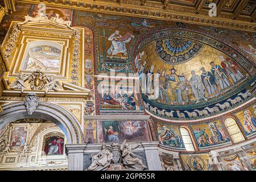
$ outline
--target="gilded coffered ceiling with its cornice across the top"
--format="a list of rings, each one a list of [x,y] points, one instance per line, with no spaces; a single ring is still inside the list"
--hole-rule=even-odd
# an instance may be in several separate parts
[[[109,14],[179,20],[255,31],[255,0],[16,0],[16,2],[82,9]],[[208,7],[216,3],[217,16],[210,17]]]

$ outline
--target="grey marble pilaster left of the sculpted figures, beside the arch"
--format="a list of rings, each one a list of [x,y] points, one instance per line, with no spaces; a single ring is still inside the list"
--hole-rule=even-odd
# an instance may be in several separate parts
[[[84,148],[83,144],[66,144],[68,154],[68,171],[84,170]]]

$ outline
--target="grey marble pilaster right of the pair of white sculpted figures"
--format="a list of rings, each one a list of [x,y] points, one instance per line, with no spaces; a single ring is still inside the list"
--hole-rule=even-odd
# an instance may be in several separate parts
[[[159,158],[158,144],[158,141],[142,143],[146,153],[148,170],[150,171],[163,171]]]

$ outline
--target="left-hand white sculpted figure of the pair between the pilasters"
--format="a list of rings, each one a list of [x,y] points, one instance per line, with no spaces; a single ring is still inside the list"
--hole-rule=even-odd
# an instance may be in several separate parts
[[[88,171],[99,170],[106,168],[110,165],[113,159],[113,154],[106,148],[106,144],[103,143],[101,151],[96,155],[92,155],[92,163],[87,168]]]

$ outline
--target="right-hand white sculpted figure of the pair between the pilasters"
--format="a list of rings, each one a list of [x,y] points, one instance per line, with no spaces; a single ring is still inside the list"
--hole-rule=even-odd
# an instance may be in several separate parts
[[[140,144],[135,144],[135,146],[133,146],[131,143],[126,143],[126,139],[123,141],[120,150],[122,151],[122,160],[126,168],[146,169],[142,159],[132,152],[132,150],[139,145]]]

